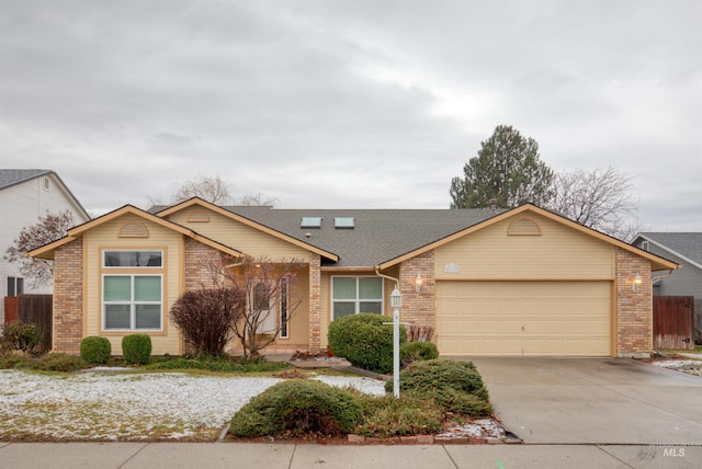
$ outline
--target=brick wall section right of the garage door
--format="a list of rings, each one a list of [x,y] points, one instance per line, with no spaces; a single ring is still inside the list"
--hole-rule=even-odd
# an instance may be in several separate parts
[[[650,262],[616,248],[616,356],[648,357],[653,351]],[[641,291],[632,290],[636,274]]]

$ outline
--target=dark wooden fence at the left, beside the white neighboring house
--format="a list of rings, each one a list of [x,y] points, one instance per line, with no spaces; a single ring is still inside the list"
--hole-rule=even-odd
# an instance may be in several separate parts
[[[52,295],[20,295],[19,297],[5,297],[4,299],[5,322],[19,319],[26,324],[34,324],[36,331],[43,338],[39,345],[41,351],[50,351],[54,345],[52,341],[53,298]],[[8,306],[10,307],[9,309]]]

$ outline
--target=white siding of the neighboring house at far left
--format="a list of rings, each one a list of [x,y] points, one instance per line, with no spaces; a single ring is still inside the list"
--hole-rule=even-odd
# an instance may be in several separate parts
[[[48,190],[44,188],[44,180],[48,178]],[[15,264],[4,260],[4,254],[22,228],[35,225],[38,217],[46,213],[57,214],[70,210],[76,225],[87,221],[83,210],[68,197],[63,184],[52,175],[42,175],[23,183],[0,190],[0,207],[2,207],[2,224],[0,224],[0,323],[4,322],[4,298],[8,294],[8,277],[23,277]],[[52,285],[32,288],[30,278],[24,279],[25,294],[50,294]]]

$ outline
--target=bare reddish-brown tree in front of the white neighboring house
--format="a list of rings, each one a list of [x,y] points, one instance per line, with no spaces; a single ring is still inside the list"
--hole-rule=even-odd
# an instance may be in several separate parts
[[[5,251],[5,261],[20,265],[20,272],[30,279],[32,288],[50,285],[54,278],[54,262],[45,259],[30,259],[24,254],[65,237],[75,224],[73,214],[70,210],[58,214],[47,211],[45,216],[39,217],[36,225],[22,228],[13,244]]]

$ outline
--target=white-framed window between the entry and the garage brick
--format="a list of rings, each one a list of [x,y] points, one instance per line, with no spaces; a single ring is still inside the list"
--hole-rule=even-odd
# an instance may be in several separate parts
[[[383,278],[332,277],[332,320],[359,312],[383,313]]]

